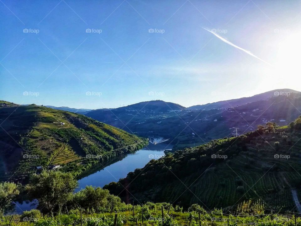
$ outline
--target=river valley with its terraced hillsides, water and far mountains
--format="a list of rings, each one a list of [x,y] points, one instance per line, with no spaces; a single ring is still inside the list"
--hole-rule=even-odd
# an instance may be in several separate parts
[[[77,178],[77,192],[103,187],[127,203],[235,209],[264,200],[298,211],[299,92],[203,110],[155,100],[84,115],[2,103],[3,179],[26,184],[55,169]]]

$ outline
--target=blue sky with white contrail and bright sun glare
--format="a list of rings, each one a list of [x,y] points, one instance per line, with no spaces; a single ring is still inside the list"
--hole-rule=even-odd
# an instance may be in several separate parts
[[[0,100],[185,107],[300,89],[301,1],[0,1]]]

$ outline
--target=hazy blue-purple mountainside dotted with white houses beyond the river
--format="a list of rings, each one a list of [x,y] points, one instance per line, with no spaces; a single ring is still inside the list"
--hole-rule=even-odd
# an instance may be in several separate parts
[[[284,91],[292,90],[281,90],[281,92]],[[141,137],[169,138],[170,141],[166,142],[166,145],[171,142],[174,149],[182,149],[200,145],[212,139],[231,137],[236,130],[238,134],[253,131],[257,125],[264,125],[269,121],[285,126],[301,115],[300,92],[295,91],[290,95],[281,93],[281,95],[268,98],[274,92],[280,91],[272,90],[266,94],[255,95],[255,98],[243,98],[243,101],[240,103],[236,101],[235,106],[228,108],[187,110],[173,103],[169,103],[172,105],[169,108],[168,103],[164,101],[150,101],[114,110],[96,110],[87,113],[86,116]],[[246,104],[246,100],[255,101]]]

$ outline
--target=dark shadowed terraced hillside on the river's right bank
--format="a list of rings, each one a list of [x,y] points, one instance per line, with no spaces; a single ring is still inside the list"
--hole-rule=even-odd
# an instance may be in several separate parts
[[[269,209],[298,210],[300,154],[301,116],[289,126],[267,123],[239,137],[167,154],[104,188],[127,202],[235,209],[244,200],[260,199]]]

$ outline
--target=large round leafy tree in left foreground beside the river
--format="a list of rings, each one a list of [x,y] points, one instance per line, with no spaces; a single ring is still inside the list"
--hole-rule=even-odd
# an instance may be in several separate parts
[[[71,173],[61,171],[42,171],[40,175],[34,174],[27,189],[32,198],[39,201],[38,208],[44,213],[53,213],[71,199],[78,182]]]

